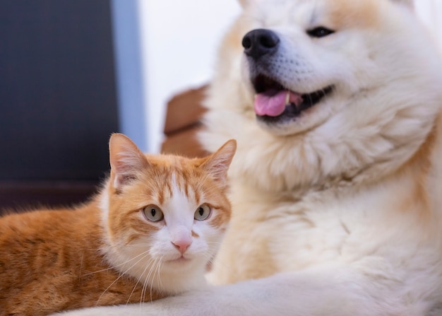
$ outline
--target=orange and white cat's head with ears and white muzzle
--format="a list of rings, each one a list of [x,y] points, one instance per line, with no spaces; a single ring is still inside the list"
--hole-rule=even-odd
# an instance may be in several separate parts
[[[169,293],[201,282],[229,222],[227,170],[236,147],[227,141],[206,158],[148,155],[113,134],[100,197],[109,264]]]

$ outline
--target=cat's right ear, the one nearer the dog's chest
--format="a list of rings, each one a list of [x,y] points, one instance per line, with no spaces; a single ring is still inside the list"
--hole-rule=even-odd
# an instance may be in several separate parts
[[[215,153],[205,158],[201,167],[208,170],[221,185],[227,185],[227,170],[236,151],[237,141],[230,139]]]

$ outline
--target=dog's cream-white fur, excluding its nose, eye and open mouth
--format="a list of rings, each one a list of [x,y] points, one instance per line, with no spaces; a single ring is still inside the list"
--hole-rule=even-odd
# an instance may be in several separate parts
[[[210,274],[234,284],[69,315],[442,315],[442,62],[411,2],[241,1],[201,136],[238,141]],[[335,33],[306,35],[317,26]],[[256,28],[280,38],[274,78],[333,93],[257,124],[240,45]]]

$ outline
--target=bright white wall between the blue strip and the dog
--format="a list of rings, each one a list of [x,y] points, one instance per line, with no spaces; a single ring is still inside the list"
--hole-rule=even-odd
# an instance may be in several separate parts
[[[148,150],[158,152],[165,105],[206,83],[220,38],[239,13],[236,0],[138,0],[145,57]]]

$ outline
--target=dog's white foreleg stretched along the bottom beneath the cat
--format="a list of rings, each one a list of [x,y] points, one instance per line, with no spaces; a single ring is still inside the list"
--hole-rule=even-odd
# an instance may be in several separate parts
[[[377,316],[425,315],[427,306],[400,300],[397,280],[364,276],[350,268],[309,269],[214,286],[144,305],[67,312],[64,316]],[[420,303],[422,304],[422,302]]]

